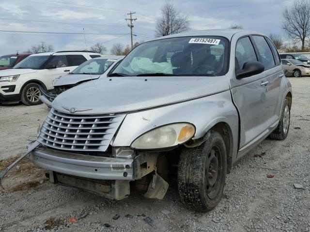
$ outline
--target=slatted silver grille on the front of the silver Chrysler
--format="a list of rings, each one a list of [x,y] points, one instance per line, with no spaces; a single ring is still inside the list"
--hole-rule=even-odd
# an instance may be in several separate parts
[[[70,151],[106,151],[125,115],[76,115],[51,109],[39,141]]]

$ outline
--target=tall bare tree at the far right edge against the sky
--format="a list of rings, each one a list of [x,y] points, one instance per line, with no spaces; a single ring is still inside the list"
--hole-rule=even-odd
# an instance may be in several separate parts
[[[293,40],[301,42],[301,51],[310,36],[310,0],[295,0],[283,12],[282,29]]]

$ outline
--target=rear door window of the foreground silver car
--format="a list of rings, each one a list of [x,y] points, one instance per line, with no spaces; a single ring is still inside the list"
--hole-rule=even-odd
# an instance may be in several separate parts
[[[275,66],[275,60],[265,38],[263,36],[254,35],[253,39],[258,49],[260,61],[265,66],[265,69]]]

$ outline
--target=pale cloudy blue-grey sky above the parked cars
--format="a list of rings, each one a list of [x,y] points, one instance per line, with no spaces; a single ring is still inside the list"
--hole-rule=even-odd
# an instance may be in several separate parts
[[[129,11],[134,22],[134,42],[155,35],[155,23],[165,0],[0,0],[0,30],[72,33],[86,35],[86,44],[103,43],[110,52],[113,43],[130,43],[130,29],[124,18]],[[267,35],[283,35],[282,11],[293,0],[174,0],[188,15],[191,30],[225,29],[232,24]],[[68,4],[71,3],[71,4]],[[78,5],[75,5],[78,4]],[[87,5],[81,6],[81,5]],[[117,35],[118,34],[118,35]],[[122,35],[126,34],[126,35]],[[0,31],[0,55],[26,51],[32,44],[50,43],[55,50],[85,49],[84,35],[33,34]]]

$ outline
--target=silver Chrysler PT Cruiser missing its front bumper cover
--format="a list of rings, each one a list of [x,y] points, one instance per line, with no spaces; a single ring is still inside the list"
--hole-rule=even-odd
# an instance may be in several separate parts
[[[51,182],[121,200],[181,201],[208,211],[232,165],[267,136],[286,138],[292,87],[271,40],[202,30],[142,43],[106,78],[52,103],[29,159]]]

